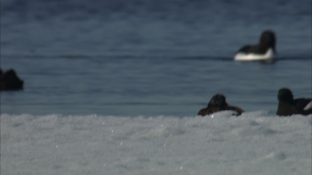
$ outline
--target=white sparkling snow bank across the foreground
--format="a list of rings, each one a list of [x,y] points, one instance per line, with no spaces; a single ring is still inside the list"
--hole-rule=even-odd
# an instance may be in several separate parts
[[[312,115],[1,114],[1,175],[311,175]]]

